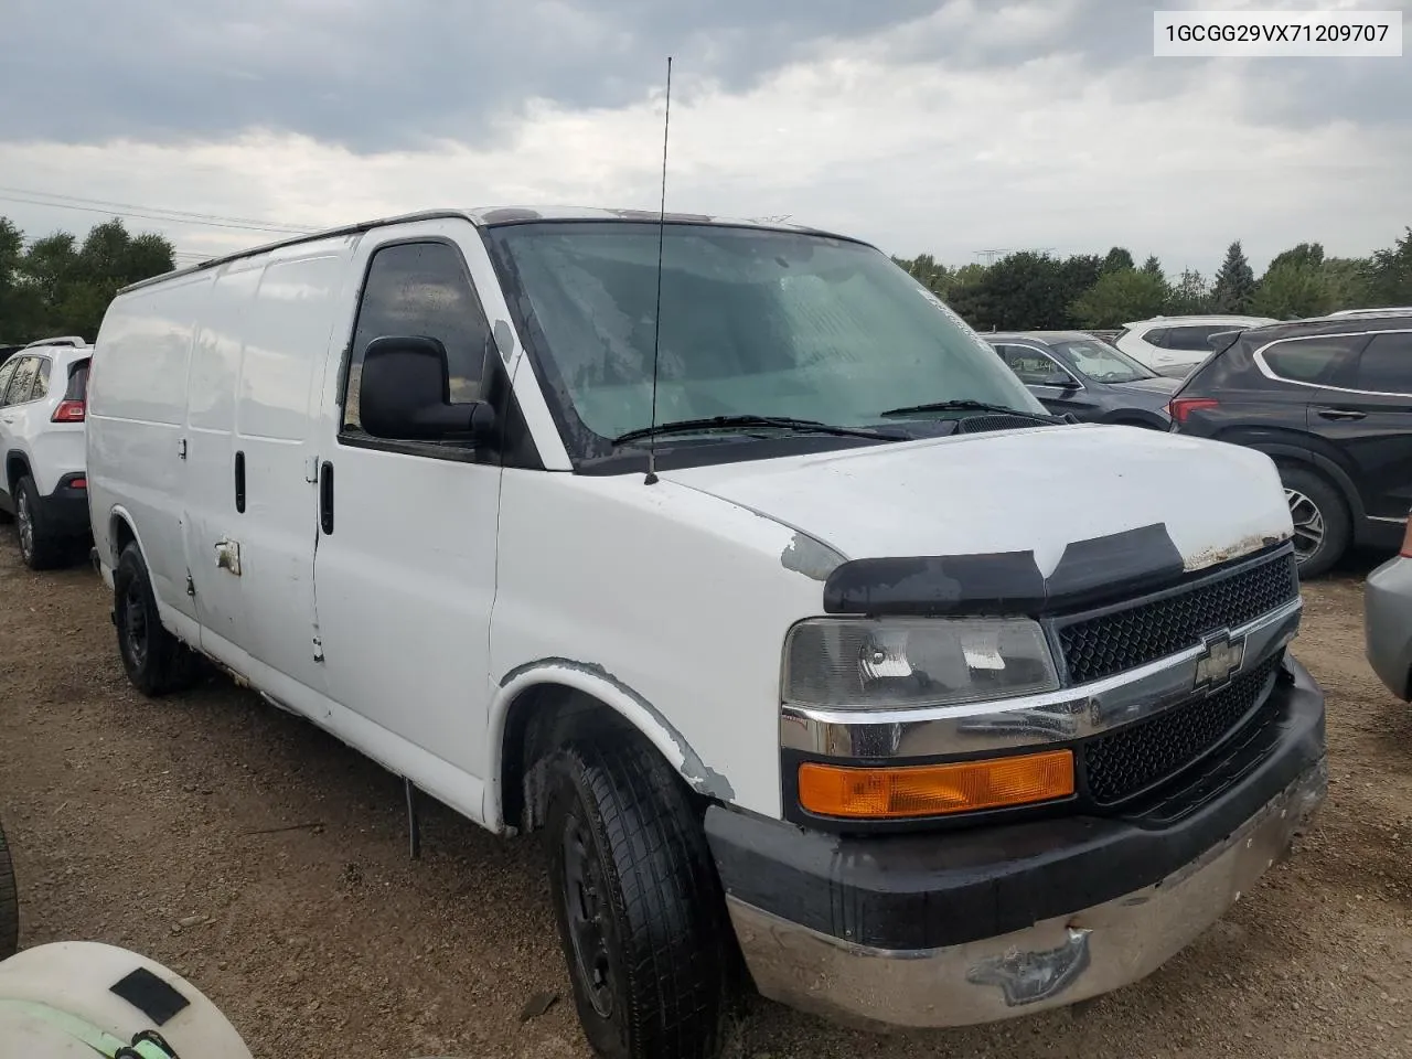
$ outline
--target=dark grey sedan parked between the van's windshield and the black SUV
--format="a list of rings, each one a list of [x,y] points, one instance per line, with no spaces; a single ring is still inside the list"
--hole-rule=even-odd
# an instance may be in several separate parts
[[[1055,415],[1156,431],[1172,424],[1166,404],[1180,383],[1107,342],[1073,330],[994,333],[986,340]]]

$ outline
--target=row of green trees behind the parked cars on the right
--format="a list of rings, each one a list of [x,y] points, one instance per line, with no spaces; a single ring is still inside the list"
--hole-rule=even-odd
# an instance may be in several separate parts
[[[1391,247],[1358,258],[1327,257],[1322,244],[1299,243],[1275,254],[1260,278],[1240,240],[1210,281],[1192,268],[1171,278],[1155,256],[1139,267],[1124,247],[1104,257],[1019,251],[957,268],[931,254],[892,260],[977,330],[1103,329],[1210,312],[1298,319],[1412,305],[1412,227]]]

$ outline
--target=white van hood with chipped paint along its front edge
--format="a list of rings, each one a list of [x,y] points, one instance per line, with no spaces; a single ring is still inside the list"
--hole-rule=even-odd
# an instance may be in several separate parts
[[[1042,426],[661,472],[842,559],[1032,552],[1162,525],[1186,570],[1292,535],[1254,449],[1128,426]]]

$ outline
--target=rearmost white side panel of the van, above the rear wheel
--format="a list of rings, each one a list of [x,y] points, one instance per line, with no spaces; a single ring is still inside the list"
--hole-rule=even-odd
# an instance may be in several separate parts
[[[88,393],[89,510],[99,554],[109,565],[117,561],[107,521],[120,504],[138,522],[158,600],[188,617],[195,607],[186,594],[179,443],[196,313],[210,281],[203,273],[119,297],[95,343]]]

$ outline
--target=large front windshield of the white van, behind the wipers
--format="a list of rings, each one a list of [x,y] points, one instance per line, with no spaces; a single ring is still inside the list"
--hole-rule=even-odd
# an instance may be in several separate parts
[[[510,304],[534,316],[556,412],[607,439],[652,417],[658,226],[487,230]],[[662,236],[657,422],[762,415],[868,426],[977,401],[1045,415],[1004,363],[880,251],[806,233],[669,223]],[[566,414],[572,411],[572,417]],[[587,455],[579,452],[579,456]]]

